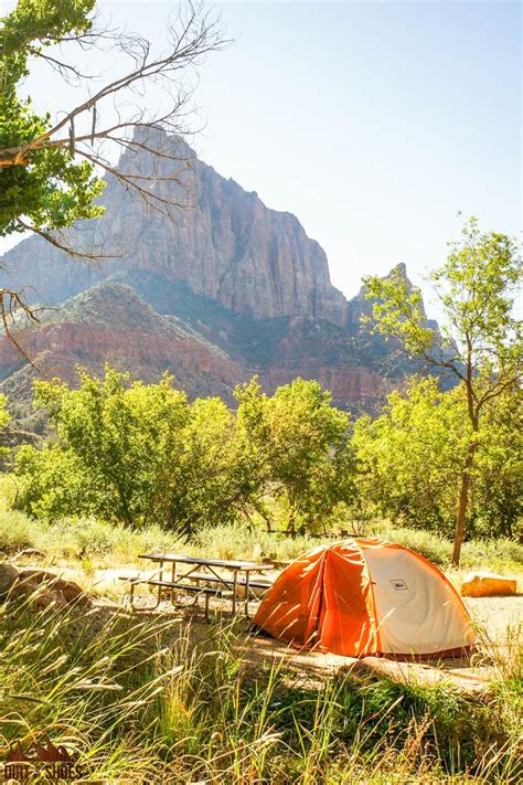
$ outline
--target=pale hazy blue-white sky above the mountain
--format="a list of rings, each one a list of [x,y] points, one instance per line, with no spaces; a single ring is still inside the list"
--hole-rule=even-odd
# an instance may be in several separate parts
[[[12,3],[11,3],[12,4]],[[163,40],[170,2],[103,2]],[[6,7],[6,4],[4,4]],[[200,157],[299,218],[333,283],[441,262],[457,211],[519,234],[519,2],[225,2],[234,43],[201,68]],[[107,63],[105,63],[105,66]],[[64,100],[40,66],[35,105]]]

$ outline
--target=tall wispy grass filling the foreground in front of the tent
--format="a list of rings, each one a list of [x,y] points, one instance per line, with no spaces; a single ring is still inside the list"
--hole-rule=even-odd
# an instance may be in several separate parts
[[[352,676],[249,667],[231,625],[0,606],[0,755],[51,739],[89,779],[132,783],[516,783],[514,682],[484,700]],[[520,692],[521,694],[521,692]]]

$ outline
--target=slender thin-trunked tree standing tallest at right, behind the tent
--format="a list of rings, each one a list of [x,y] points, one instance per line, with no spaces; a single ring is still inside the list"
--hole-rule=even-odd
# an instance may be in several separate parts
[[[419,289],[399,272],[364,283],[375,300],[374,330],[459,382],[470,428],[456,503],[452,562],[459,564],[481,421],[492,402],[521,384],[523,374],[522,322],[513,301],[521,280],[519,247],[504,234],[480,233],[477,220],[470,219],[431,280],[446,317],[440,332],[427,325]]]

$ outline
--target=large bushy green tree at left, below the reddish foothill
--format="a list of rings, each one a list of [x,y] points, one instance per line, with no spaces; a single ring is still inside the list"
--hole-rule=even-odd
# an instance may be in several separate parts
[[[147,522],[154,507],[156,477],[162,460],[177,448],[189,420],[186,395],[172,388],[169,376],[159,384],[135,382],[128,386],[127,374],[111,368],[106,369],[103,380],[85,371],[81,371],[79,380],[78,390],[35,382],[35,406],[47,412],[62,459],[72,458],[64,485],[75,473],[87,481],[90,494],[78,500],[79,511],[88,508],[128,526]],[[57,454],[47,455],[56,458]],[[35,468],[39,466],[36,462]],[[28,468],[22,454],[19,474],[26,474]],[[35,476],[36,484],[45,481],[42,473],[36,470]],[[38,487],[34,492],[38,496]],[[78,511],[68,494],[62,498],[72,501],[72,509],[66,505],[62,513]]]

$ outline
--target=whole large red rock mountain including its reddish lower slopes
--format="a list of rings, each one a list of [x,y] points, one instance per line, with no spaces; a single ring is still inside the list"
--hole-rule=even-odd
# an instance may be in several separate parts
[[[191,394],[227,400],[254,373],[269,390],[301,375],[319,379],[340,405],[373,409],[412,368],[362,329],[363,294],[348,301],[332,286],[324,252],[293,215],[269,210],[179,139],[156,131],[154,144],[177,151],[178,183],[171,159],[158,165],[139,148],[120,166],[141,176],[157,167],[157,193],[181,205],[172,220],[109,178],[106,214],[71,240],[116,258],[75,262],[38,237],[2,257],[1,285],[57,306],[18,331],[40,371],[74,381],[75,365],[99,372],[109,361],[152,381],[169,370]],[[11,399],[29,395],[34,373],[0,339]]]

